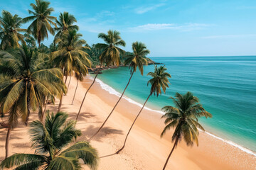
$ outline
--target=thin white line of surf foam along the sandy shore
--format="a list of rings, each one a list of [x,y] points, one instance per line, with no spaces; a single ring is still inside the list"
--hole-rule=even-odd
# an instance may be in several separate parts
[[[90,79],[93,79],[93,78],[90,77]],[[104,83],[103,81],[101,81],[100,79],[96,79],[96,82],[97,82],[98,84],[100,84],[100,86],[101,86],[102,89],[105,89],[105,91],[108,91],[110,94],[114,94],[114,95],[116,95],[116,96],[118,96],[118,97],[121,96],[121,94],[120,94],[118,91],[114,90],[111,86],[105,84],[105,83]],[[129,101],[130,103],[133,103],[133,104],[135,104],[135,105],[137,105],[137,106],[139,106],[139,107],[142,107],[142,104],[141,104],[141,103],[138,103],[138,102],[136,102],[136,101],[133,101],[131,98],[128,98],[127,96],[123,96],[123,98],[126,99],[127,101]],[[164,114],[164,112],[162,112],[162,111],[153,110],[153,109],[147,108],[147,107],[144,107],[144,108],[145,108],[146,110],[149,110],[149,111],[154,111],[154,112],[157,112],[157,113]],[[215,135],[211,134],[210,132],[206,132],[206,133],[207,133],[208,135],[212,136],[212,137],[215,137],[215,138],[218,139],[218,140],[221,140],[221,141],[223,141],[223,142],[225,142],[225,143],[228,143],[229,145],[233,145],[234,147],[237,147],[238,149],[242,150],[243,152],[247,152],[248,154],[252,154],[253,156],[256,157],[256,153],[253,152],[253,151],[251,151],[250,149],[247,149],[247,148],[245,148],[245,147],[242,147],[242,146],[240,146],[240,145],[238,145],[238,144],[236,144],[235,142],[232,142],[232,141],[230,141],[230,140],[224,140],[223,138],[218,137],[218,136],[215,136]]]

